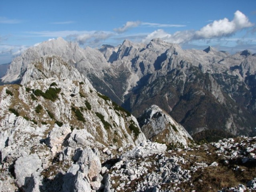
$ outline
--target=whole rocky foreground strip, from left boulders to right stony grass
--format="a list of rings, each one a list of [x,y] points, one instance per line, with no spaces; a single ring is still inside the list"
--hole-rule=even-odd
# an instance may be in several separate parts
[[[1,164],[0,190],[256,191],[256,137],[194,144],[185,149],[153,142],[126,151],[65,147],[47,169],[42,167],[43,161],[44,157],[36,151],[23,155],[9,170],[10,174]]]

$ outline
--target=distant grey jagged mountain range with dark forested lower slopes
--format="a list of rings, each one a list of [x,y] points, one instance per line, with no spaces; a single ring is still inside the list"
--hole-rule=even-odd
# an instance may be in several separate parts
[[[256,55],[249,50],[234,55],[212,47],[182,50],[161,39],[83,49],[58,38],[15,58],[2,83],[26,82],[29,64],[50,54],[135,117],[155,104],[196,140],[256,133]]]

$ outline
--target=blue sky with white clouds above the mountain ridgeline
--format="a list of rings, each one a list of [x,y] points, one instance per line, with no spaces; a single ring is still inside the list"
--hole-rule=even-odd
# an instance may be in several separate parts
[[[162,38],[256,52],[256,0],[0,0],[0,64],[59,36],[82,47]]]

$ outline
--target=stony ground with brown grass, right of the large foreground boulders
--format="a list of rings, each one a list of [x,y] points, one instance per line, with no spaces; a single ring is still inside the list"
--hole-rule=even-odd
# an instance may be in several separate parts
[[[105,191],[255,191],[255,149],[256,137],[224,139],[155,154],[141,150],[137,156],[135,149],[111,168],[105,165],[109,166]]]

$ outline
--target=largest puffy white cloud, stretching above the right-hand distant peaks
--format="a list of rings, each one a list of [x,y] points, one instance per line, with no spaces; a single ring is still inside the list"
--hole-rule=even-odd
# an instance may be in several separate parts
[[[210,38],[230,36],[239,30],[252,26],[254,26],[254,24],[252,24],[249,19],[238,10],[234,13],[234,19],[232,21],[229,21],[227,18],[215,20],[198,31],[178,31],[174,34],[168,34],[161,29],[155,30],[151,34],[148,34],[143,42],[148,42],[152,38],[161,38],[167,42],[182,44],[191,40],[209,40]]]

